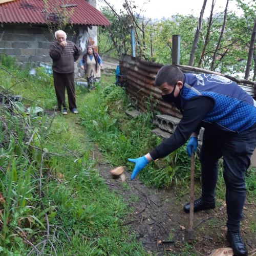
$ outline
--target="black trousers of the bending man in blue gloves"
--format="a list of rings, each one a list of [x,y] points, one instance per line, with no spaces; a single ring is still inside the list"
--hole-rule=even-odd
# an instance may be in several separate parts
[[[218,160],[223,156],[226,184],[227,227],[238,231],[245,202],[245,172],[256,146],[256,124],[240,134],[205,129],[200,153],[202,198],[212,202],[218,179]]]

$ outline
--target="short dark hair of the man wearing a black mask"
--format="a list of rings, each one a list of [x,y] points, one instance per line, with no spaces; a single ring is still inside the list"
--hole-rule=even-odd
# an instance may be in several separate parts
[[[176,82],[183,80],[184,74],[178,67],[173,65],[165,65],[157,72],[155,86],[159,87],[164,82],[167,82],[170,86],[174,86]]]

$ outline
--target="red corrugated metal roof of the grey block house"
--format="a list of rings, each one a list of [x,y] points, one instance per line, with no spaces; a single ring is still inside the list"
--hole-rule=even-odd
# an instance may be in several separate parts
[[[86,0],[71,0],[67,3],[58,0],[48,2],[52,10],[63,4],[73,5],[73,7],[66,8],[73,10],[71,23],[74,25],[110,25],[109,20]],[[4,3],[0,5],[0,23],[46,24],[44,9],[43,0],[16,0]]]

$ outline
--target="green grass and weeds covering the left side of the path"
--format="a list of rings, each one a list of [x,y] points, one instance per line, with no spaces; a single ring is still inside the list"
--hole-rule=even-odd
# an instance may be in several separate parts
[[[23,100],[25,108],[33,101],[53,110],[56,100],[52,78],[46,74],[31,78],[26,70],[17,72],[7,60],[6,70],[9,68],[15,78],[6,80],[4,90],[27,98]],[[2,69],[1,76],[5,73]],[[87,90],[77,90],[79,108],[87,94]],[[122,225],[129,209],[122,198],[109,191],[95,168],[93,145],[79,125],[78,115],[33,119],[18,113],[13,118],[2,112],[2,118],[5,121],[1,124],[12,131],[1,133],[0,140],[0,185],[5,200],[0,203],[2,253],[27,255],[32,247],[24,242],[22,233],[36,245],[46,239],[50,225],[44,253],[146,255],[135,234]],[[28,149],[30,138],[33,147]]]

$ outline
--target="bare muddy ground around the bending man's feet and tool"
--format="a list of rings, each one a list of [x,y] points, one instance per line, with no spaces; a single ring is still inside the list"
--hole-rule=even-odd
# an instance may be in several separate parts
[[[183,205],[189,202],[187,195],[175,198],[174,189],[154,189],[143,185],[138,178],[131,181],[131,173],[125,172],[125,184],[120,178],[114,179],[110,174],[113,168],[105,164],[100,152],[95,148],[94,157],[98,168],[110,190],[116,190],[133,209],[123,225],[130,225],[137,233],[147,252],[157,255],[209,255],[214,249],[229,247],[226,240],[226,207],[225,202],[214,210],[196,212],[194,214],[194,243],[187,244],[189,215],[183,211]],[[197,195],[199,196],[199,195]],[[197,196],[195,196],[197,198]],[[249,255],[256,255],[256,234],[249,226],[256,220],[255,204],[245,204],[242,221],[242,236],[247,244]],[[165,241],[163,243],[161,241]]]

